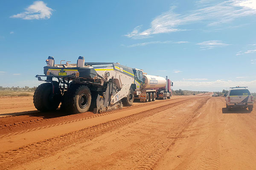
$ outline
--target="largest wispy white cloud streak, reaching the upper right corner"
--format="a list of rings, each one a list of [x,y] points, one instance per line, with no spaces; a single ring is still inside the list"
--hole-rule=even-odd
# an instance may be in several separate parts
[[[222,23],[230,23],[236,18],[256,14],[255,0],[227,0],[217,4],[205,4],[203,8],[188,11],[186,14],[175,13],[175,6],[169,11],[163,12],[151,22],[151,27],[140,31],[142,25],[137,26],[126,37],[141,39],[151,37],[153,34],[186,31],[180,26],[202,23],[205,26],[217,26]]]

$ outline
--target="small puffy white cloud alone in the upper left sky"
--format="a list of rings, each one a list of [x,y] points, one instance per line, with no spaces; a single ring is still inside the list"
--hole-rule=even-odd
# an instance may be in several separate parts
[[[11,18],[22,18],[23,20],[39,20],[50,18],[52,15],[52,8],[46,6],[43,1],[35,1],[32,5],[25,8],[24,12],[12,15]]]

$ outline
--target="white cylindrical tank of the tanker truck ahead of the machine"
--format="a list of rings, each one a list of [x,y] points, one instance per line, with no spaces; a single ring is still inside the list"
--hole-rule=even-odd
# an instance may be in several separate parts
[[[145,84],[143,85],[143,89],[154,89],[154,88],[166,87],[166,79],[163,77],[144,74],[143,78],[145,78]]]

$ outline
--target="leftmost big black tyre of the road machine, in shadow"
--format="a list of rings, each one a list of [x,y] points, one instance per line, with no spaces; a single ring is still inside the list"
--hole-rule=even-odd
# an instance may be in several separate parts
[[[55,111],[61,102],[61,92],[58,85],[54,86],[54,93],[52,94],[52,84],[43,83],[35,89],[33,96],[33,103],[38,111]]]

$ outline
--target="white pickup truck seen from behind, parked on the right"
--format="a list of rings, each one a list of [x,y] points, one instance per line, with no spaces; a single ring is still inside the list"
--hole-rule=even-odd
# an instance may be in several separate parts
[[[226,96],[226,107],[231,108],[248,108],[253,111],[253,96],[247,87],[235,87],[228,91]]]

